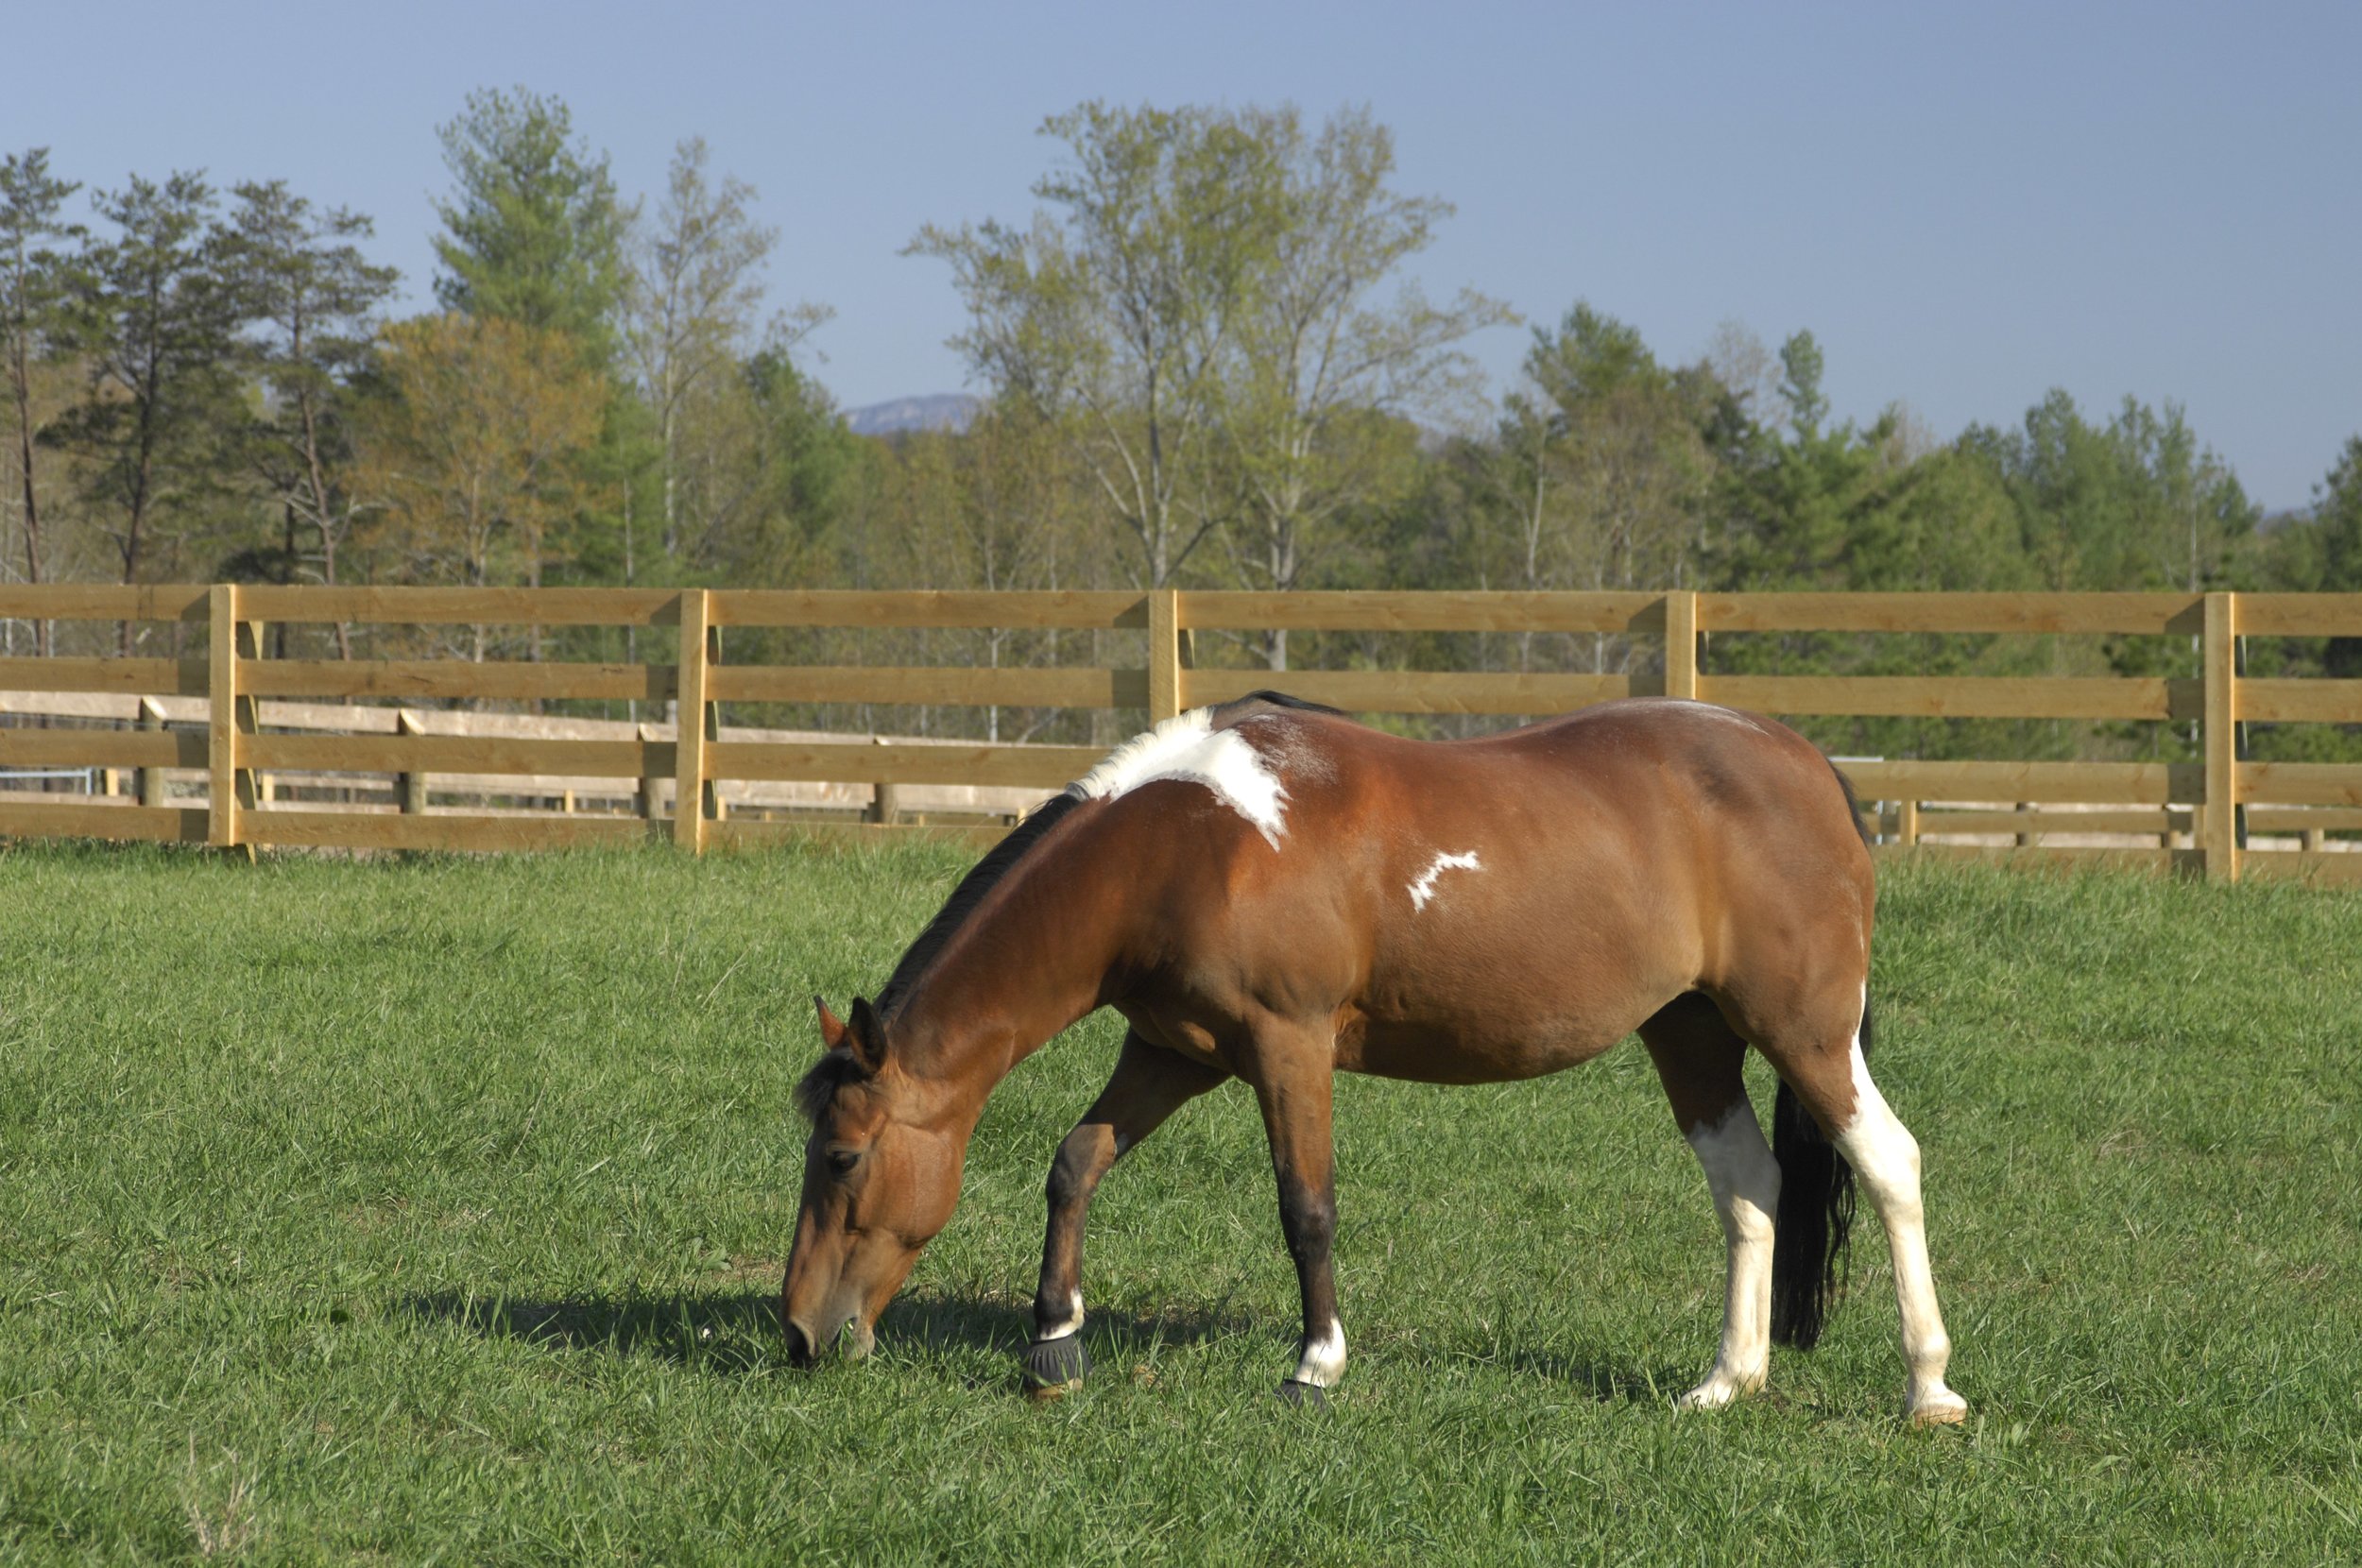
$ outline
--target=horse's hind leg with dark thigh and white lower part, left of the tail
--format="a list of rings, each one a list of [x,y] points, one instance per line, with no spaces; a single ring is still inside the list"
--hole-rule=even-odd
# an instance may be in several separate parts
[[[1639,1037],[1665,1084],[1665,1098],[1672,1100],[1672,1117],[1705,1169],[1729,1252],[1722,1348],[1705,1381],[1679,1400],[1689,1410],[1710,1410],[1762,1389],[1772,1365],[1772,1216],[1779,1211],[1779,1164],[1741,1077],[1748,1046],[1705,997],[1691,992],[1675,999],[1639,1027]]]

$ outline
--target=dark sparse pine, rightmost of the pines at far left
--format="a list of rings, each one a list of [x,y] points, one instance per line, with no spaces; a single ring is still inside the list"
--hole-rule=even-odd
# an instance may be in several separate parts
[[[319,581],[333,583],[338,548],[359,515],[352,463],[350,383],[368,364],[373,316],[399,274],[371,264],[354,241],[366,217],[317,210],[286,182],[241,184],[227,264],[250,324],[248,354],[267,392],[248,427],[248,451],[286,522],[293,574],[298,527],[319,541]],[[345,626],[338,652],[352,656]]]

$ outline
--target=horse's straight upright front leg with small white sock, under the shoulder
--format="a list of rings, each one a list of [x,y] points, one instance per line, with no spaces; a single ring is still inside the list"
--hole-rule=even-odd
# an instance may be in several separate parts
[[[1280,1183],[1280,1230],[1304,1292],[1304,1339],[1297,1370],[1280,1384],[1290,1403],[1325,1405],[1344,1374],[1344,1325],[1337,1322],[1337,1162],[1330,1138],[1335,1039],[1320,1032],[1259,1037],[1252,1082]]]

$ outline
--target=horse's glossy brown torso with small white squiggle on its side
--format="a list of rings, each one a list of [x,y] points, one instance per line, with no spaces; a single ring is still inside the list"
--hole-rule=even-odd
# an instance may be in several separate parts
[[[1174,989],[1332,1013],[1344,1067],[1552,1072],[1686,989],[1866,952],[1845,791],[1783,725],[1651,699],[1467,741],[1271,706],[1216,725],[1283,815],[1264,831],[1183,779],[1134,803]]]

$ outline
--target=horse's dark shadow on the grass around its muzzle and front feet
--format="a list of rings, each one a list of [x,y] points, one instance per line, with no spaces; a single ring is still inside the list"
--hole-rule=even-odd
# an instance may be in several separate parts
[[[515,1341],[548,1351],[652,1355],[704,1372],[749,1374],[789,1370],[775,1289],[678,1292],[666,1296],[583,1294],[565,1299],[432,1292],[392,1304],[394,1318],[456,1327],[484,1341]],[[1219,1308],[1160,1313],[1094,1311],[1084,1344],[1094,1355],[1138,1355],[1160,1344],[1198,1344],[1268,1329]],[[879,1318],[879,1344],[997,1351],[1006,1377],[966,1374],[961,1381],[1016,1386],[1016,1358],[1032,1339],[1032,1308],[983,1294],[921,1294],[890,1304]]]

